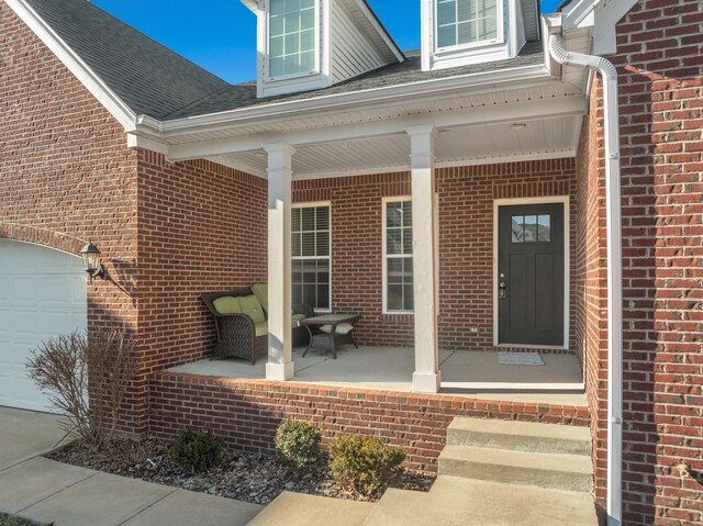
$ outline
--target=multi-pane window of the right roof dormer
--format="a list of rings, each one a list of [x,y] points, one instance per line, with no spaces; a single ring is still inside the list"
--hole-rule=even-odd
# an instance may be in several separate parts
[[[436,0],[436,10],[439,48],[499,37],[499,0]]]

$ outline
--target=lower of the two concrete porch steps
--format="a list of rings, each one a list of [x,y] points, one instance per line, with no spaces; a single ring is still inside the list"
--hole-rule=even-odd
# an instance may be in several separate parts
[[[446,446],[438,473],[587,493],[593,478],[589,457],[469,446]]]

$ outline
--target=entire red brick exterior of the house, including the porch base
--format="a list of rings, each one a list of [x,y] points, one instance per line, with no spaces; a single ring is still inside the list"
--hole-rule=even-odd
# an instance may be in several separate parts
[[[691,0],[640,0],[617,27],[627,525],[703,524],[702,29]],[[0,64],[0,236],[74,254],[92,238],[103,251],[110,279],[89,286],[89,331],[126,326],[138,337],[123,430],[168,436],[211,425],[230,444],[270,450],[278,419],[305,416],[323,422],[327,438],[343,428],[384,436],[409,449],[411,466],[432,469],[456,415],[589,424],[572,407],[158,372],[213,343],[201,292],[266,278],[265,181],[126,148],[122,126],[5,3]],[[598,86],[592,93],[576,163],[438,170],[439,340],[492,347],[493,200],[569,195],[570,349],[585,369],[603,505],[604,154]],[[361,343],[412,345],[412,316],[381,313],[381,203],[410,193],[408,174],[301,181],[293,190],[298,202],[332,202],[334,310],[364,314]],[[679,474],[680,463],[692,477]]]

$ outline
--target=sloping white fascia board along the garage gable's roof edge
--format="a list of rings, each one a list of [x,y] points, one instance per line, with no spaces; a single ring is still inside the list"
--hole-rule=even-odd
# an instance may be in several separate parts
[[[68,70],[124,127],[132,131],[136,114],[112,91],[107,83],[68,46],[54,30],[24,0],[5,0],[14,13],[56,55]]]

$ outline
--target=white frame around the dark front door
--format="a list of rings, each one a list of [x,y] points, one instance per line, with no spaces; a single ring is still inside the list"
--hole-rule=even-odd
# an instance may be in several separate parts
[[[571,307],[571,290],[569,289],[571,275],[570,257],[570,200],[569,195],[554,195],[544,198],[517,198],[493,200],[493,347],[535,347],[542,349],[568,349],[569,348],[569,311]],[[557,204],[563,205],[563,343],[562,345],[517,345],[499,343],[498,328],[498,255],[499,255],[499,209],[514,204]]]

